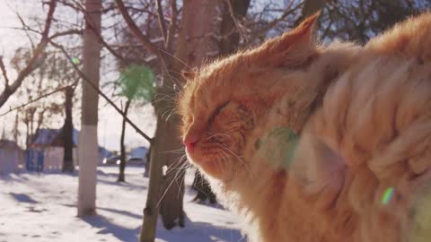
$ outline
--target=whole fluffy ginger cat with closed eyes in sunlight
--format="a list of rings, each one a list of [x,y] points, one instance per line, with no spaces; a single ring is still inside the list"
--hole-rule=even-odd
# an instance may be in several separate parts
[[[185,74],[189,160],[249,241],[431,241],[431,13],[365,47],[317,16]]]

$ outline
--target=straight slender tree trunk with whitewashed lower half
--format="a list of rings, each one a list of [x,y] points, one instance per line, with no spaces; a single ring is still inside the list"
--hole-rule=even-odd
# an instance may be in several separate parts
[[[85,1],[85,30],[84,30],[84,74],[99,87],[101,67],[101,0]],[[96,210],[96,170],[99,160],[97,142],[98,118],[97,91],[83,82],[83,106],[81,116],[81,132],[79,137],[79,185],[78,185],[78,216],[95,213]]]

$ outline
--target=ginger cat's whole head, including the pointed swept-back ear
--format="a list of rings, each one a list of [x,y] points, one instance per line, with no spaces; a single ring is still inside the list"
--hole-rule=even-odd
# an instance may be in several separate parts
[[[303,82],[317,55],[312,27],[318,14],[257,48],[185,73],[178,100],[189,160],[211,177],[226,179],[247,166],[242,157],[251,131],[275,99]],[[287,84],[288,82],[288,84]]]

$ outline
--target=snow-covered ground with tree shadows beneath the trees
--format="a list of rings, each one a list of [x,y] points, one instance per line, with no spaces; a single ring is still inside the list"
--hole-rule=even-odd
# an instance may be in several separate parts
[[[76,217],[76,175],[0,176],[0,242],[136,241],[148,186],[143,171],[127,168],[128,182],[119,184],[117,168],[99,168],[97,215],[85,219]],[[184,198],[186,227],[166,230],[159,223],[157,242],[245,241],[230,212],[192,203],[192,199],[188,192]]]

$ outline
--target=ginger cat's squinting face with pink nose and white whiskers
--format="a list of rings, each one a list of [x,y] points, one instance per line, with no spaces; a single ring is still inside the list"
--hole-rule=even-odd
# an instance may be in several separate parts
[[[190,161],[222,178],[228,169],[244,165],[238,162],[258,110],[251,93],[238,90],[230,79],[199,78],[185,88],[180,100],[183,141]]]

